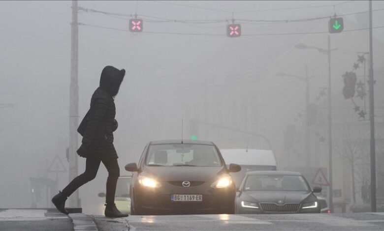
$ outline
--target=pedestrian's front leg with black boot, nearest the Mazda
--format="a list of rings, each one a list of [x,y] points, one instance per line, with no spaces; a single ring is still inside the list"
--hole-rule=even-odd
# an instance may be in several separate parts
[[[115,193],[117,180],[120,176],[120,168],[117,159],[102,160],[108,171],[107,193],[105,197],[105,216],[106,217],[128,217],[127,213],[120,212],[115,204]]]

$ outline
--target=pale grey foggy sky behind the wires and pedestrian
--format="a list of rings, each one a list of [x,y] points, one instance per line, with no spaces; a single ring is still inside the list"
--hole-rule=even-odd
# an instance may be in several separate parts
[[[220,9],[183,7],[152,1],[79,1],[78,5],[107,12],[118,12],[174,20],[215,20],[230,22],[230,12],[287,7],[332,5],[343,1],[170,1],[171,3]],[[0,207],[30,207],[29,177],[43,174],[55,155],[67,168],[68,146],[70,22],[71,1],[0,1],[0,103],[15,104],[0,109]],[[374,9],[384,1],[374,1]],[[368,10],[368,1],[336,6],[337,14]],[[235,19],[288,20],[331,16],[333,7],[235,13]],[[344,16],[345,28],[366,28],[368,14]],[[364,18],[365,17],[365,18]],[[258,133],[267,136],[277,158],[281,158],[283,131],[305,103],[305,86],[294,78],[276,76],[278,72],[305,75],[311,80],[311,101],[320,87],[327,86],[326,56],[315,50],[298,50],[297,43],[321,48],[327,46],[327,33],[281,36],[246,34],[327,31],[327,19],[303,23],[242,24],[244,36],[225,36],[226,22],[199,25],[150,22],[144,31],[223,34],[178,35],[128,31],[128,20],[99,13],[79,13],[79,23],[116,29],[79,26],[79,116],[89,109],[106,65],[125,68],[126,78],[115,99],[119,128],[114,133],[122,174],[124,165],[138,160],[144,145],[151,140],[180,139],[181,120],[203,118],[204,111],[185,115],[190,105],[204,104],[206,81],[228,87],[248,83],[258,92]],[[154,18],[155,20],[155,18]],[[374,26],[384,26],[384,14],[374,13]],[[363,36],[363,39],[354,38]],[[365,36],[365,37],[364,37]],[[375,44],[383,47],[384,29],[375,29]],[[341,93],[341,75],[355,61],[356,52],[368,51],[368,30],[332,34],[332,92]],[[358,41],[358,42],[356,42]],[[376,66],[381,54],[374,53]],[[375,68],[376,68],[375,66]],[[379,89],[377,90],[379,91]],[[228,92],[230,94],[232,92]],[[235,94],[234,94],[235,95]],[[383,99],[377,99],[378,104]],[[230,111],[223,112],[230,114]],[[214,122],[214,121],[210,121]],[[230,124],[224,124],[230,126]],[[186,125],[187,126],[187,125]],[[188,134],[186,134],[188,135]],[[215,141],[215,138],[211,138]],[[219,144],[220,147],[220,144]],[[280,151],[280,152],[279,152]],[[85,161],[79,158],[79,173]],[[124,170],[124,172],[123,172]],[[95,192],[105,191],[106,170],[102,166],[95,181],[81,188],[84,208],[102,203]],[[56,175],[51,174],[55,178]],[[60,174],[59,189],[67,183]],[[92,194],[86,198],[86,194]],[[40,203],[45,206],[44,199]],[[96,206],[96,205],[95,205]],[[84,206],[83,206],[84,207]]]

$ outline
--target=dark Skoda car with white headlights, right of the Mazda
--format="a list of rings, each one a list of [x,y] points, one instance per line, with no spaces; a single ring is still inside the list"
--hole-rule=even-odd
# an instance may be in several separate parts
[[[301,173],[281,171],[247,172],[236,196],[237,214],[320,213],[320,204]]]

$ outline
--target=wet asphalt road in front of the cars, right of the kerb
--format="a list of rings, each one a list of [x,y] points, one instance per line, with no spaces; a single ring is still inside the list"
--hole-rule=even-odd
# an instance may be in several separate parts
[[[383,231],[384,213],[93,216],[99,231]]]

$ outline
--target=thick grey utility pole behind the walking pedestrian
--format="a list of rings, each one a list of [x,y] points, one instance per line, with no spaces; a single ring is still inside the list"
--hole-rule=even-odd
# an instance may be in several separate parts
[[[77,153],[79,126],[79,86],[77,85],[78,74],[78,23],[77,23],[77,0],[72,0],[72,23],[71,23],[71,81],[69,92],[69,182],[78,174]],[[76,190],[69,197],[69,206],[78,207],[79,192]]]

